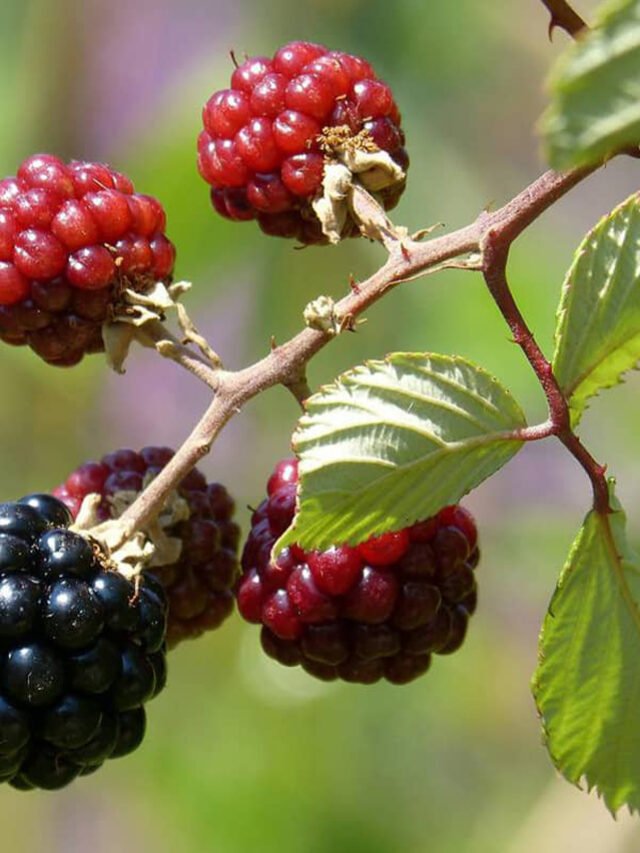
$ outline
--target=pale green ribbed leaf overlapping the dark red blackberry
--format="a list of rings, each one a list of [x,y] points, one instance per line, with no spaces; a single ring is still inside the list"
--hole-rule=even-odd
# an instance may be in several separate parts
[[[398,530],[458,501],[521,447],[518,404],[462,358],[395,353],[305,404],[295,527],[274,546],[327,548]]]

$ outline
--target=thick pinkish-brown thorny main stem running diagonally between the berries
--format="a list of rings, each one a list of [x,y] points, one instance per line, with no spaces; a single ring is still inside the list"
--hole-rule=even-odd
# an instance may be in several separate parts
[[[508,247],[540,214],[597,168],[596,165],[565,173],[545,172],[498,210],[483,211],[465,228],[425,243],[399,233],[390,241],[387,234],[386,263],[366,281],[352,284],[349,293],[336,303],[336,317],[355,319],[399,282],[427,273],[451,258],[478,252],[488,235]],[[248,400],[274,385],[297,389],[294,393],[298,400],[306,397],[308,388],[300,385],[306,364],[334,337],[335,334],[306,328],[281,346],[273,347],[268,355],[249,367],[234,372],[216,370],[211,383],[215,388],[213,401],[171,462],[123,514],[122,541],[157,515],[171,490],[209,452],[216,436]],[[542,437],[540,429],[532,429],[532,439]],[[559,435],[555,423],[554,429]],[[571,447],[567,446],[584,465],[586,451],[580,451],[576,441],[574,436],[573,443],[569,441]]]

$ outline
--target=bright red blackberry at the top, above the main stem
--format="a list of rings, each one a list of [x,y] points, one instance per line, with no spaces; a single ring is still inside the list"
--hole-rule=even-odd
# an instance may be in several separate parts
[[[326,163],[345,143],[387,152],[400,167],[400,177],[368,186],[386,209],[404,190],[409,158],[398,107],[357,56],[297,41],[271,59],[252,57],[235,69],[229,89],[211,96],[202,116],[198,168],[212,187],[213,207],[228,219],[256,219],[266,234],[328,242],[313,202]],[[340,236],[359,233],[347,216]]]

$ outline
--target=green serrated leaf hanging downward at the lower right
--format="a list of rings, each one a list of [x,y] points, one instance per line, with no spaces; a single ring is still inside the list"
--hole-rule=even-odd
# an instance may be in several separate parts
[[[640,809],[640,565],[625,515],[591,512],[540,636],[533,693],[558,770],[607,807]]]

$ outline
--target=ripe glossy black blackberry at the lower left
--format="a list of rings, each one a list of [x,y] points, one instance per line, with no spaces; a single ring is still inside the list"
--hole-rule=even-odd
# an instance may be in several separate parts
[[[50,495],[0,504],[0,782],[62,788],[144,737],[166,598],[68,528]]]

